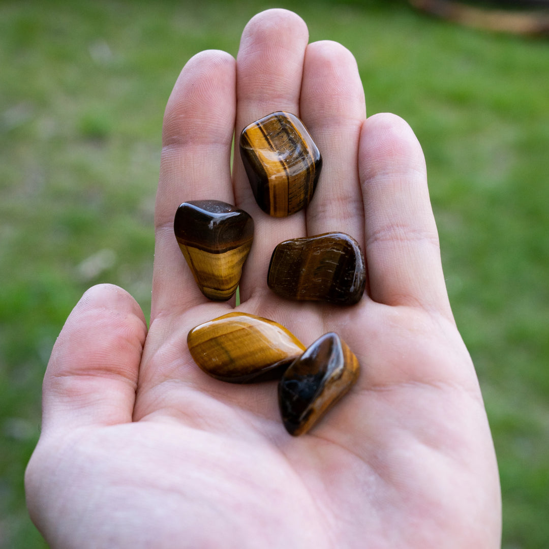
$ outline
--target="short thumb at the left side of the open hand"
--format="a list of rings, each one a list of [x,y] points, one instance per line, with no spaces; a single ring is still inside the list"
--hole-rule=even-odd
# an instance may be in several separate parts
[[[147,323],[130,294],[97,285],[72,310],[44,376],[42,433],[132,421]]]

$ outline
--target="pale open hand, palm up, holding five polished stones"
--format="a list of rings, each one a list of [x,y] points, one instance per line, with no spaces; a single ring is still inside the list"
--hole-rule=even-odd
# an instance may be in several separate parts
[[[308,43],[285,10],[256,15],[235,60],[195,55],[167,103],[155,211],[150,328],[121,288],[82,297],[55,343],[40,441],[26,472],[31,517],[57,548],[451,548],[501,544],[497,464],[472,361],[453,320],[421,147],[391,114],[366,119],[352,54]],[[367,82],[365,83],[367,86]],[[324,165],[306,211],[255,204],[231,141],[287,110]],[[285,432],[276,383],[204,374],[189,329],[230,312],[197,288],[173,236],[186,200],[255,220],[238,310],[305,345],[334,331],[356,385],[309,433]],[[363,249],[355,306],[297,303],[267,288],[282,240],[342,231]]]

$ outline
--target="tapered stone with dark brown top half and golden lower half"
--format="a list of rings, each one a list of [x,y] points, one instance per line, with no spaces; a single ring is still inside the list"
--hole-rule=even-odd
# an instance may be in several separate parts
[[[200,291],[231,299],[254,239],[250,215],[220,200],[192,200],[177,208],[173,232]]]

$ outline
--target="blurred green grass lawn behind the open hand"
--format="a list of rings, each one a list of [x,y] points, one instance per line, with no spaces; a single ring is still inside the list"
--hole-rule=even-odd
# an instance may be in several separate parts
[[[236,55],[245,23],[273,5],[0,2],[0,547],[46,546],[23,473],[72,306],[112,282],[148,314],[161,124],[178,72],[201,49]],[[503,547],[549,547],[549,42],[398,0],[276,5],[298,12],[311,40],[355,54],[369,114],[393,111],[416,131],[494,434]]]

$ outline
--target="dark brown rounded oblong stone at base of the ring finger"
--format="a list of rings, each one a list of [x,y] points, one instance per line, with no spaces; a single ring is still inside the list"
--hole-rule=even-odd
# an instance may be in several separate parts
[[[287,299],[354,305],[366,287],[364,257],[345,233],[285,240],[273,250],[267,285]]]

